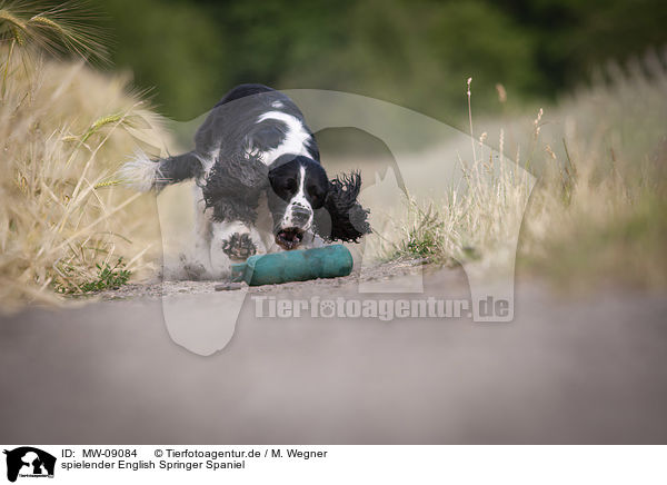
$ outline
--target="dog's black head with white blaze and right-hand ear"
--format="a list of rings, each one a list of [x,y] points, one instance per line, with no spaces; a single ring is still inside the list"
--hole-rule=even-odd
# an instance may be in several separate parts
[[[307,231],[328,241],[357,241],[370,232],[368,210],[357,201],[359,174],[329,180],[319,162],[285,155],[269,168],[269,184],[273,235],[283,249],[298,248]]]

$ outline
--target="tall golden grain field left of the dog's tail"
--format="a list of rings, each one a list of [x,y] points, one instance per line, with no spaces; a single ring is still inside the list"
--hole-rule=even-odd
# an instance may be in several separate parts
[[[146,268],[159,254],[155,198],[111,176],[138,143],[160,147],[158,118],[128,91],[127,77],[82,61],[24,63],[7,46],[0,59],[9,60],[0,106],[2,308],[90,288],[123,256],[123,270]]]

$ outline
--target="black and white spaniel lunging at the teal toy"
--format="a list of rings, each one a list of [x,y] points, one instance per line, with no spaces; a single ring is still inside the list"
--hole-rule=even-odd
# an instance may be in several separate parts
[[[199,277],[219,278],[253,254],[355,241],[370,232],[361,177],[329,180],[303,115],[261,85],[229,91],[195,136],[195,150],[126,164],[121,179],[159,191],[195,179]]]

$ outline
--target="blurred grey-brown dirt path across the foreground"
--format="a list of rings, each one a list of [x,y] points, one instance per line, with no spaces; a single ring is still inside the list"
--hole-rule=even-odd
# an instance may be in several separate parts
[[[365,277],[407,278],[419,267],[404,265]],[[427,267],[424,275],[422,296],[467,295],[460,271]],[[249,293],[358,298],[358,283],[352,275]],[[661,294],[607,288],[574,297],[519,279],[509,324],[256,318],[246,298],[230,344],[202,357],[171,340],[160,296],[197,296],[215,318],[225,308],[213,286],[129,286],[78,308],[2,317],[2,441],[667,441]]]

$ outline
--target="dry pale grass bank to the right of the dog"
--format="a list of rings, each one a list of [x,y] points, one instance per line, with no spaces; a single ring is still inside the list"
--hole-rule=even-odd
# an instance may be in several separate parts
[[[480,138],[498,140],[500,152],[539,178],[527,212],[530,180],[502,171],[489,148],[474,143],[475,162],[461,161],[467,184],[437,204],[408,200],[385,257],[501,265],[520,229],[524,270],[571,288],[665,287],[666,65],[654,53],[625,69],[611,66],[532,119],[487,121]]]

